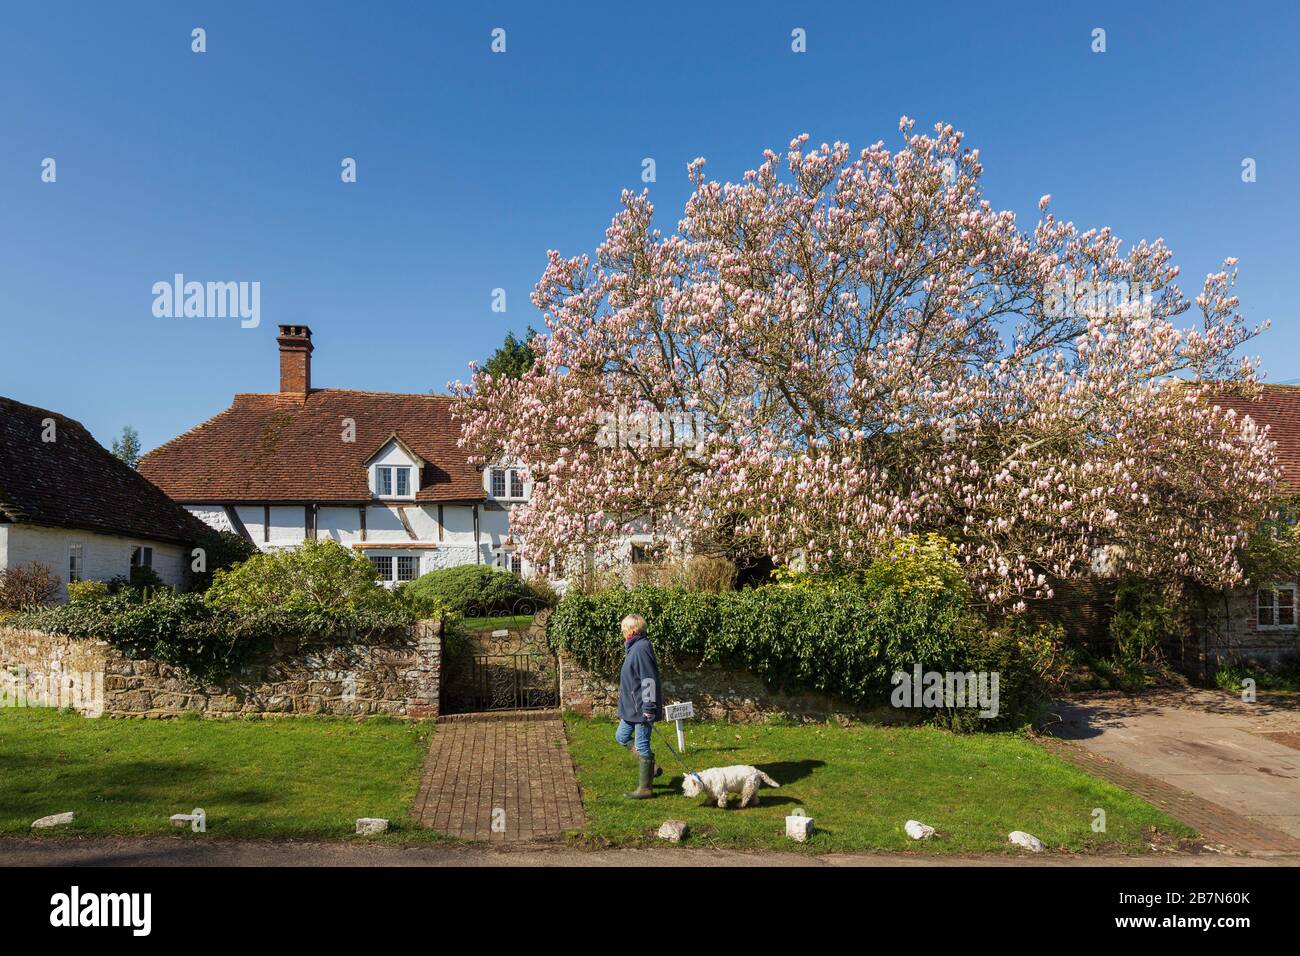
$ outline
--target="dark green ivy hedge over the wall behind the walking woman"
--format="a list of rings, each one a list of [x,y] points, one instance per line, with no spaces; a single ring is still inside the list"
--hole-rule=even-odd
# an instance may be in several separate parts
[[[1000,714],[940,711],[962,728],[1034,719],[1044,687],[1023,640],[989,631],[961,589],[841,583],[833,588],[764,585],[722,594],[634,588],[566,597],[551,613],[551,643],[606,676],[623,657],[619,622],[641,614],[660,663],[686,659],[746,670],[779,689],[811,689],[861,706],[889,704],[897,671],[997,671]]]

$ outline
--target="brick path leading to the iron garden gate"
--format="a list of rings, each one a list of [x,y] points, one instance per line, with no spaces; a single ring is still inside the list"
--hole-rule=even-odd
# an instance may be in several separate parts
[[[556,839],[581,829],[564,722],[555,714],[484,718],[438,722],[416,797],[420,822],[491,843]]]

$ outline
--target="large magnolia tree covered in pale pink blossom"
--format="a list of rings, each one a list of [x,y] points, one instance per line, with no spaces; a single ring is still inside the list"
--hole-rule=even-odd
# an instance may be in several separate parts
[[[845,568],[937,531],[993,604],[1097,570],[1240,580],[1278,476],[1205,397],[1254,388],[1235,260],[1183,328],[1161,241],[1049,196],[1022,232],[961,133],[900,126],[857,156],[805,134],[740,183],[696,160],[675,234],[624,193],[594,256],[549,254],[533,368],[454,385],[463,444],[530,471],[532,559],[644,532]]]

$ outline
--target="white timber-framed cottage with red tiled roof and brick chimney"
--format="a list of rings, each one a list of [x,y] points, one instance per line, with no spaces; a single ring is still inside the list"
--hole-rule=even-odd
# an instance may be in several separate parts
[[[529,572],[510,507],[530,483],[523,468],[469,463],[450,397],[313,389],[311,329],[281,325],[277,341],[280,392],[237,394],[140,473],[263,550],[329,537],[389,584],[467,563]]]

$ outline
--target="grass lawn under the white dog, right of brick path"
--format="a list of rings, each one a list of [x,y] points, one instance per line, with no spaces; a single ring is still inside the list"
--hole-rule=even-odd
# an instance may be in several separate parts
[[[686,842],[725,847],[794,848],[784,817],[802,806],[816,821],[810,851],[1024,852],[1006,842],[1026,830],[1048,849],[1141,851],[1193,834],[1171,817],[1104,780],[1076,770],[1011,734],[956,736],[927,727],[849,728],[837,724],[686,722],[693,770],[753,763],[780,790],[764,787],[757,806],[725,810],[706,796],[681,796],[680,765],[659,740],[663,775],[653,800],[624,800],[636,787],[636,762],[614,743],[610,721],[566,718],[582,787],[586,835],[598,843],[654,839],[666,819],[690,825]],[[672,724],[662,727],[676,748]],[[1093,832],[1093,808],[1105,832]],[[916,842],[904,823],[919,819],[940,836]],[[1156,836],[1160,831],[1160,836]]]

